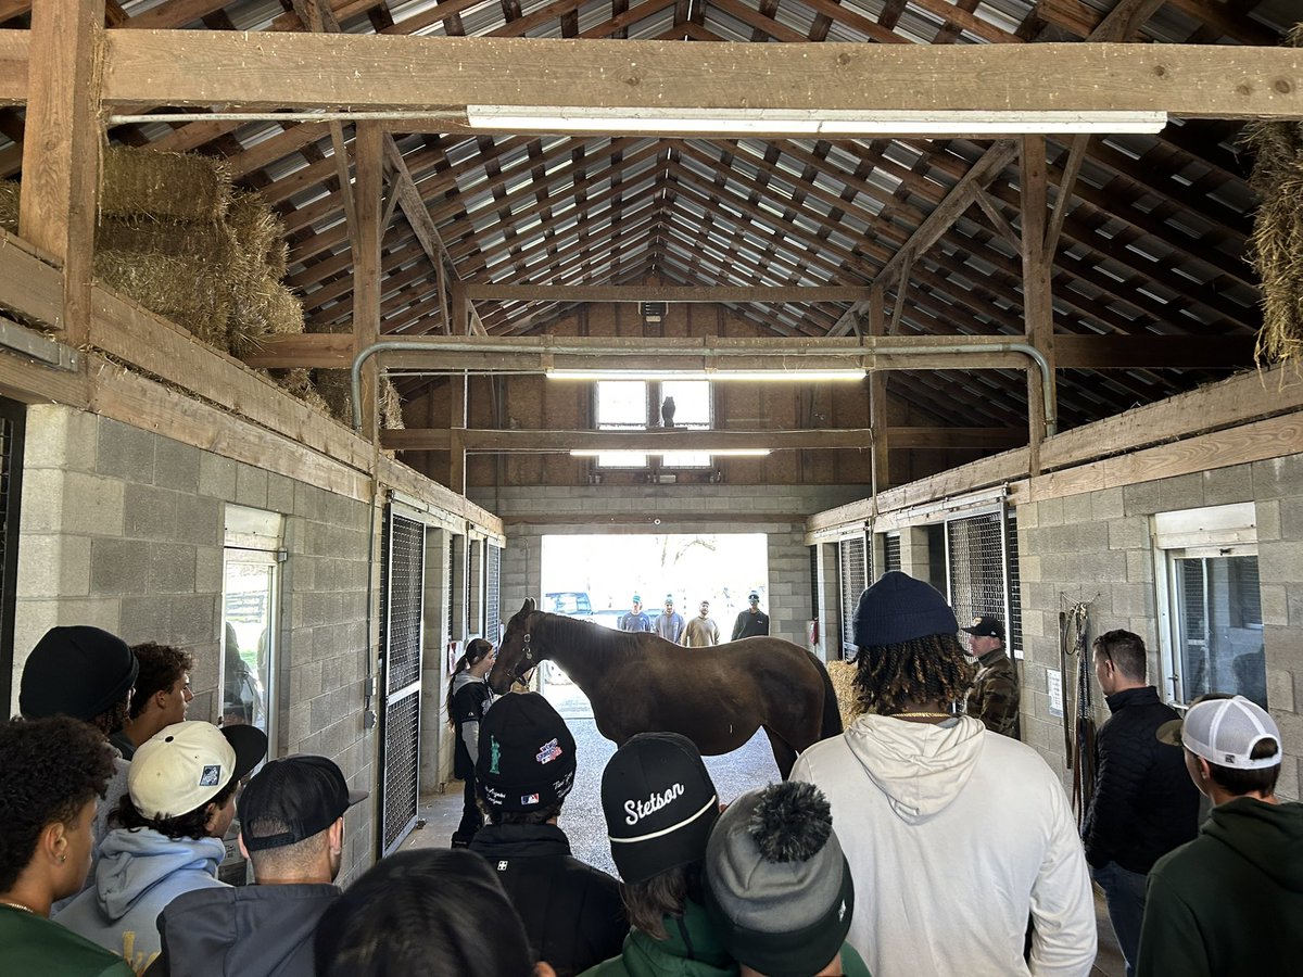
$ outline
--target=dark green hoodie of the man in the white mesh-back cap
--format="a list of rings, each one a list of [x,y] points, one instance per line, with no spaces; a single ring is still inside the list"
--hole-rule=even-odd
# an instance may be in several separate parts
[[[1136,977],[1263,977],[1300,960],[1303,804],[1218,804],[1149,871]]]

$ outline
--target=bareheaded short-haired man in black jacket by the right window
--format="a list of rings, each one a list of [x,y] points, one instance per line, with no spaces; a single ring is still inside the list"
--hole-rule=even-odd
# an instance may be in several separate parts
[[[1127,977],[1134,977],[1145,877],[1160,857],[1196,835],[1199,792],[1181,752],[1154,739],[1160,726],[1178,716],[1145,684],[1144,641],[1110,630],[1095,640],[1093,651],[1095,675],[1113,715],[1096,737],[1095,793],[1083,840]]]

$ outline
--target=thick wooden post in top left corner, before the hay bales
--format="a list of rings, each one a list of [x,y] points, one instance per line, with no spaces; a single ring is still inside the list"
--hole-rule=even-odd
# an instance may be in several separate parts
[[[42,0],[31,12],[18,234],[63,262],[70,347],[90,335],[103,23],[104,0]]]

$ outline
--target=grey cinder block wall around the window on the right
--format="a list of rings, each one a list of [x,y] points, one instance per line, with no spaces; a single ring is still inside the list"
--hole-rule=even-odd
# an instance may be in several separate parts
[[[1157,512],[1253,503],[1261,578],[1268,703],[1285,740],[1280,793],[1299,797],[1303,762],[1303,455],[1046,499],[1018,507],[1023,586],[1023,739],[1067,776],[1062,719],[1049,714],[1046,670],[1059,668],[1058,611],[1091,602],[1091,636],[1113,628],[1151,649],[1161,683],[1149,517]],[[1097,720],[1108,718],[1093,680]],[[1072,703],[1065,703],[1071,710]]]

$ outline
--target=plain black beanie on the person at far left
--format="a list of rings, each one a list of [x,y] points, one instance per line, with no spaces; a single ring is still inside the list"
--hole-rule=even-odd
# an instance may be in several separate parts
[[[90,722],[126,698],[141,663],[116,634],[86,624],[51,628],[22,666],[18,711],[27,719]]]

